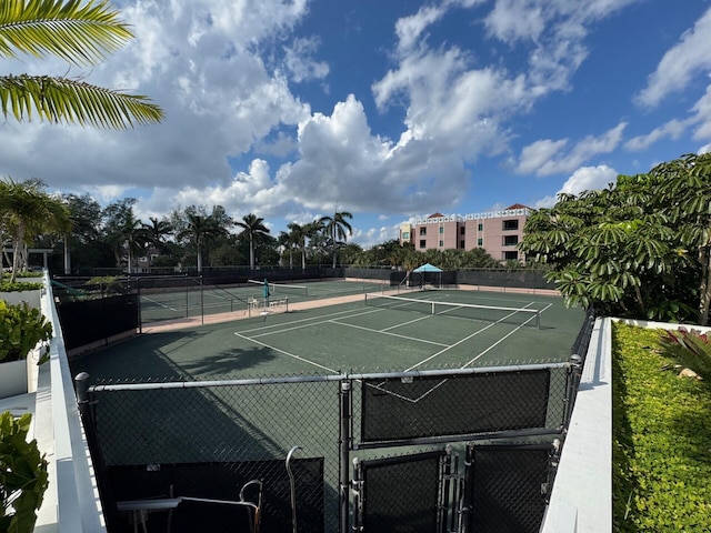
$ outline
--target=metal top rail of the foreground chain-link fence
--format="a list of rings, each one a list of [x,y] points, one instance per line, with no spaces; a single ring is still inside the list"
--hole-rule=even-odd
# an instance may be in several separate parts
[[[169,381],[169,382],[141,382],[141,383],[114,383],[99,384],[89,388],[90,392],[103,391],[140,391],[152,389],[200,389],[210,386],[248,386],[248,385],[273,385],[283,383],[318,383],[336,381],[368,381],[383,379],[408,379],[408,378],[448,378],[453,375],[487,374],[501,372],[531,372],[540,370],[569,369],[571,363],[538,363],[519,364],[509,366],[477,366],[468,369],[445,369],[445,370],[420,370],[408,372],[370,372],[370,373],[348,373],[331,375],[296,375],[282,378],[251,378],[239,380],[206,380],[206,381]]]

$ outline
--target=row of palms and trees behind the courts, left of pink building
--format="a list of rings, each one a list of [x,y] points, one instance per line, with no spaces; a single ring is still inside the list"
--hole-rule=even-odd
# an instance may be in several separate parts
[[[191,205],[182,212],[173,212],[170,218],[159,220],[151,217],[149,223],[143,223],[133,212],[136,199],[113,202],[103,210],[92,202],[96,203],[88,195],[49,194],[39,180],[0,180],[0,242],[12,244],[12,258],[8,257],[7,263],[12,264],[13,276],[28,265],[28,245],[38,243],[44,248],[63,243],[64,273],[71,272],[69,243],[73,242],[74,245],[93,244],[94,248],[109,249],[117,266],[127,260],[130,274],[133,273],[136,258],[147,254],[149,249],[160,255],[169,253],[170,248],[170,252],[182,257],[192,250],[198,272],[201,272],[207,251],[219,247],[222,250],[234,248],[240,242],[249,247],[251,270],[257,264],[257,249],[271,252],[270,264],[273,263],[273,253],[288,253],[291,266],[294,252],[301,252],[302,268],[306,268],[307,254],[328,250],[336,265],[338,250],[352,234],[348,222],[352,215],[348,212],[321,217],[307,224],[292,222],[289,231],[274,239],[263,218],[249,213],[233,221],[221,205],[213,207],[212,212]],[[232,228],[239,231],[233,232]],[[236,257],[234,253],[224,254],[229,259]],[[148,258],[150,270],[150,253]],[[181,259],[178,261],[182,262]]]

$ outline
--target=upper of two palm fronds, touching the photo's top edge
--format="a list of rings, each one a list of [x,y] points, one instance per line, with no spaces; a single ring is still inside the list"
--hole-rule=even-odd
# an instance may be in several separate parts
[[[108,0],[0,2],[0,56],[52,54],[73,64],[94,64],[132,37]]]

